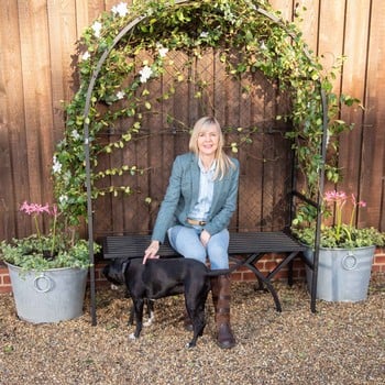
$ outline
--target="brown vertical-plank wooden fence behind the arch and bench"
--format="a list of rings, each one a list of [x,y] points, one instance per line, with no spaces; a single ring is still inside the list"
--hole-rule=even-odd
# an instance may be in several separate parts
[[[76,41],[100,12],[110,10],[119,2],[120,0],[2,1],[0,240],[23,237],[31,232],[31,221],[19,212],[21,202],[52,201],[50,169],[55,143],[62,138],[64,128],[62,101],[72,99],[77,85],[74,67]],[[341,76],[334,81],[336,90],[361,99],[365,109],[346,109],[342,112],[342,119],[354,123],[355,129],[345,134],[341,142],[339,166],[343,169],[344,180],[338,188],[354,193],[367,202],[365,210],[359,215],[359,226],[374,226],[385,231],[385,2],[270,2],[276,10],[280,10],[283,18],[287,20],[292,20],[294,12],[299,11],[302,6],[307,8],[307,11],[302,12],[304,37],[311,50],[323,57],[326,67],[332,66],[339,56],[346,56]],[[227,87],[227,95],[231,97],[231,88],[229,85]],[[262,121],[271,119],[272,111],[277,108],[276,101],[267,103],[265,97],[258,98],[255,103],[262,103],[260,106],[264,107],[265,112],[260,117]],[[222,112],[226,124],[242,121],[241,111],[244,106],[235,101],[229,106],[233,106],[231,113]],[[255,121],[255,117],[249,117],[250,122]],[[190,120],[194,118],[195,116],[191,116]],[[248,122],[243,121],[242,124]],[[272,216],[274,217],[282,202],[284,187],[289,177],[287,144],[282,142],[279,132],[274,135],[261,132],[260,135],[255,140],[256,147],[251,146],[239,154],[241,161],[248,160],[242,162],[244,168],[241,193],[252,189],[257,197],[254,197],[254,204],[250,205],[250,196],[241,195],[244,197],[240,204],[242,209],[234,221],[241,221],[242,227],[274,227],[283,221],[280,215],[273,219]],[[161,146],[155,141],[150,147],[148,143],[146,144],[148,153],[153,153],[152,148],[156,146],[161,148],[161,153],[156,155],[161,160],[153,160],[154,164],[158,162],[162,165],[156,173],[158,176],[151,179],[152,186],[154,180],[157,180],[155,191],[151,193],[155,198],[154,202],[162,199],[172,160],[177,153],[187,150],[186,138],[163,133],[162,138],[156,139],[158,140]],[[139,151],[142,154],[143,147]],[[253,158],[256,160],[254,163]],[[266,160],[275,161],[266,163]],[[142,191],[142,198],[146,194],[147,191]],[[141,208],[142,198],[141,202],[138,198],[130,198],[129,204],[110,198],[101,200],[96,212],[97,233],[131,230],[130,226],[134,221],[141,221],[142,209],[150,213],[147,220],[152,221],[156,207]],[[252,223],[249,223],[244,213],[251,206],[255,212]],[[123,212],[124,216],[121,216]],[[139,212],[139,216],[132,217],[132,212]]]

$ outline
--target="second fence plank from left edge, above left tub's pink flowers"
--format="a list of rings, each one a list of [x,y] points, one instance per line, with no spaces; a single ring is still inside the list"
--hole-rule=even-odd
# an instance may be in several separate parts
[[[53,113],[47,9],[44,0],[19,3],[28,170],[32,201],[51,201]],[[38,29],[36,29],[38,25]],[[25,165],[24,165],[25,166]]]

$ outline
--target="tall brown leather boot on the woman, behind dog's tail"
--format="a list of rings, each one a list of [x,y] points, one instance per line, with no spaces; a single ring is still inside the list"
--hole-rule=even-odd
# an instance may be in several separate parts
[[[230,326],[230,276],[211,277],[212,302],[216,310],[217,344],[222,349],[235,345],[235,339]]]

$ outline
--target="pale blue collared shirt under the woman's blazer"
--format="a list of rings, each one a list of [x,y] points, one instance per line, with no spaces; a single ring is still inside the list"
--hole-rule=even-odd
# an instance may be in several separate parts
[[[213,161],[208,170],[205,169],[200,158],[198,161],[198,165],[200,168],[199,196],[188,218],[197,219],[197,220],[206,220],[210,212],[210,208],[212,204],[213,176],[216,173],[217,163],[216,161]]]

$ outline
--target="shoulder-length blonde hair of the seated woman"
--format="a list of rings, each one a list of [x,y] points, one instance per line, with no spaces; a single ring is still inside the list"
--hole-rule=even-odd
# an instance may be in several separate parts
[[[189,147],[191,153],[194,153],[198,156],[199,155],[199,148],[198,148],[199,133],[210,125],[215,125],[217,131],[218,131],[218,134],[219,134],[218,148],[217,148],[216,154],[215,154],[215,160],[217,162],[215,179],[217,179],[217,178],[222,179],[223,176],[226,174],[228,174],[230,168],[235,168],[235,165],[223,151],[224,138],[223,138],[221,127],[216,118],[204,117],[204,118],[200,118],[195,123],[188,147]]]

